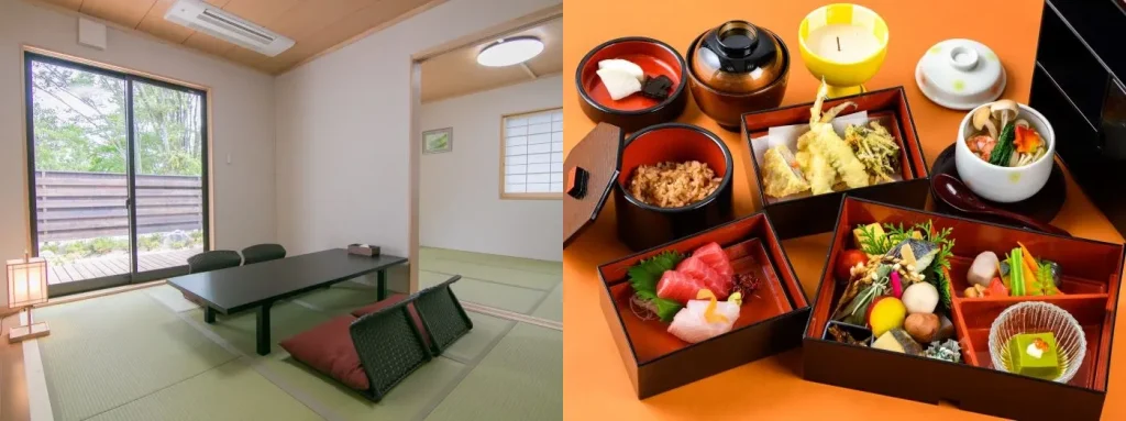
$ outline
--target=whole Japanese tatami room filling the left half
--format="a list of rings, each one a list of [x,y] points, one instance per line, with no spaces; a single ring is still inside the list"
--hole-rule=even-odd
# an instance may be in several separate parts
[[[561,419],[561,70],[554,0],[0,0],[0,420]]]

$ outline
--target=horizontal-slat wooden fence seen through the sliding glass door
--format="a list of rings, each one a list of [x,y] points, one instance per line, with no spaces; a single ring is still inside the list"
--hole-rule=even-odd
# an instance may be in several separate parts
[[[203,229],[199,177],[136,176],[137,234]],[[39,242],[127,235],[127,177],[35,172]]]

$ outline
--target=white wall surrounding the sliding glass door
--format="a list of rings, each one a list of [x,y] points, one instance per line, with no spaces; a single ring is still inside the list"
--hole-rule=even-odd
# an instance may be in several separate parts
[[[23,256],[28,239],[25,44],[209,87],[215,245],[240,249],[275,241],[274,78],[113,27],[105,51],[77,39],[74,15],[0,0],[0,260]],[[3,280],[0,307],[7,304],[6,289]]]

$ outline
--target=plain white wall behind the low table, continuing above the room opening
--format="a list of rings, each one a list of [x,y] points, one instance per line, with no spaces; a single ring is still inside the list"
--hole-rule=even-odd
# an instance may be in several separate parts
[[[560,3],[453,0],[278,77],[282,243],[408,256],[411,55]]]

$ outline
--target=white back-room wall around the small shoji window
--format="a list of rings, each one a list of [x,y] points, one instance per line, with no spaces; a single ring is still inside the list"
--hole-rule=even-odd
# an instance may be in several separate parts
[[[501,200],[499,191],[501,116],[562,106],[562,75],[423,104],[421,128],[453,127],[454,147],[422,155],[419,243],[562,260],[562,201]]]

